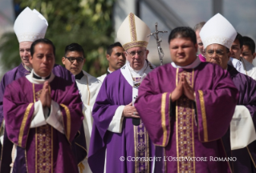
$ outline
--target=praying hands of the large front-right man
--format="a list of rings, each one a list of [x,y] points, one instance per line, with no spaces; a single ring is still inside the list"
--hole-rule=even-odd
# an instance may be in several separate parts
[[[177,99],[179,99],[181,95],[185,95],[187,98],[193,101],[195,100],[193,88],[189,86],[189,83],[185,78],[185,74],[181,74],[181,80],[178,82],[177,87],[172,92],[172,102],[175,102]]]

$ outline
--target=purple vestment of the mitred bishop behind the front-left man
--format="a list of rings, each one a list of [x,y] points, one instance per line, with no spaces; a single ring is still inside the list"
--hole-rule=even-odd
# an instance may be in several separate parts
[[[68,81],[75,81],[75,78],[71,73],[64,68],[63,66],[55,64],[52,72],[61,78],[65,78]],[[8,71],[2,77],[2,81],[0,83],[0,126],[2,127],[3,122],[3,114],[2,114],[2,99],[4,95],[4,91],[6,86],[9,85],[14,80],[26,76],[26,74],[30,74],[30,71],[26,70],[26,68],[22,65],[16,66],[14,69]],[[24,88],[26,89],[26,87]],[[6,131],[4,131],[4,142],[3,147],[0,145],[0,152],[1,152],[1,164],[0,164],[0,172],[10,172],[10,163],[11,163],[11,151],[13,148],[13,143],[7,138]],[[2,148],[1,148],[2,147]],[[26,167],[24,167],[25,169]]]

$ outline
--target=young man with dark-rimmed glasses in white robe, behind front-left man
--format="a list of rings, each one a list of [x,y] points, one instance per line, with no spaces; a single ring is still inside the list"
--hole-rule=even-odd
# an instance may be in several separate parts
[[[85,61],[86,58],[84,56],[82,46],[77,43],[71,43],[66,46],[65,56],[62,58],[62,62],[66,69],[69,70],[71,74],[75,75],[75,82],[83,101],[83,128],[87,151],[89,151],[92,127],[91,111],[95,103],[95,99],[100,91],[101,82],[83,70]],[[80,173],[91,173],[91,169],[87,163],[87,158],[83,159],[82,163],[84,169],[83,171],[81,170]]]

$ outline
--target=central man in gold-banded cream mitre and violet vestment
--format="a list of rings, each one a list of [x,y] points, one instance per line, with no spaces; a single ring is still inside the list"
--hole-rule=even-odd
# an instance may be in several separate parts
[[[92,172],[149,173],[152,170],[149,157],[154,155],[154,146],[133,106],[140,83],[154,68],[147,60],[150,33],[148,26],[132,13],[117,31],[128,63],[107,75],[93,107],[88,157]],[[136,156],[148,159],[129,160]]]

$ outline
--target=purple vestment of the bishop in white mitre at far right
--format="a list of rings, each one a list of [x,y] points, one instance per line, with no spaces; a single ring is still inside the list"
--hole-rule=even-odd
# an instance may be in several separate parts
[[[238,105],[245,106],[252,116],[254,127],[256,125],[256,81],[249,76],[239,73],[233,66],[228,65],[228,71],[238,88]],[[246,134],[245,134],[246,135]],[[226,153],[230,157],[236,157],[235,162],[230,162],[233,172],[251,173],[256,172],[256,141],[250,143],[247,147],[233,150],[230,148],[230,129],[222,138],[226,148]]]

